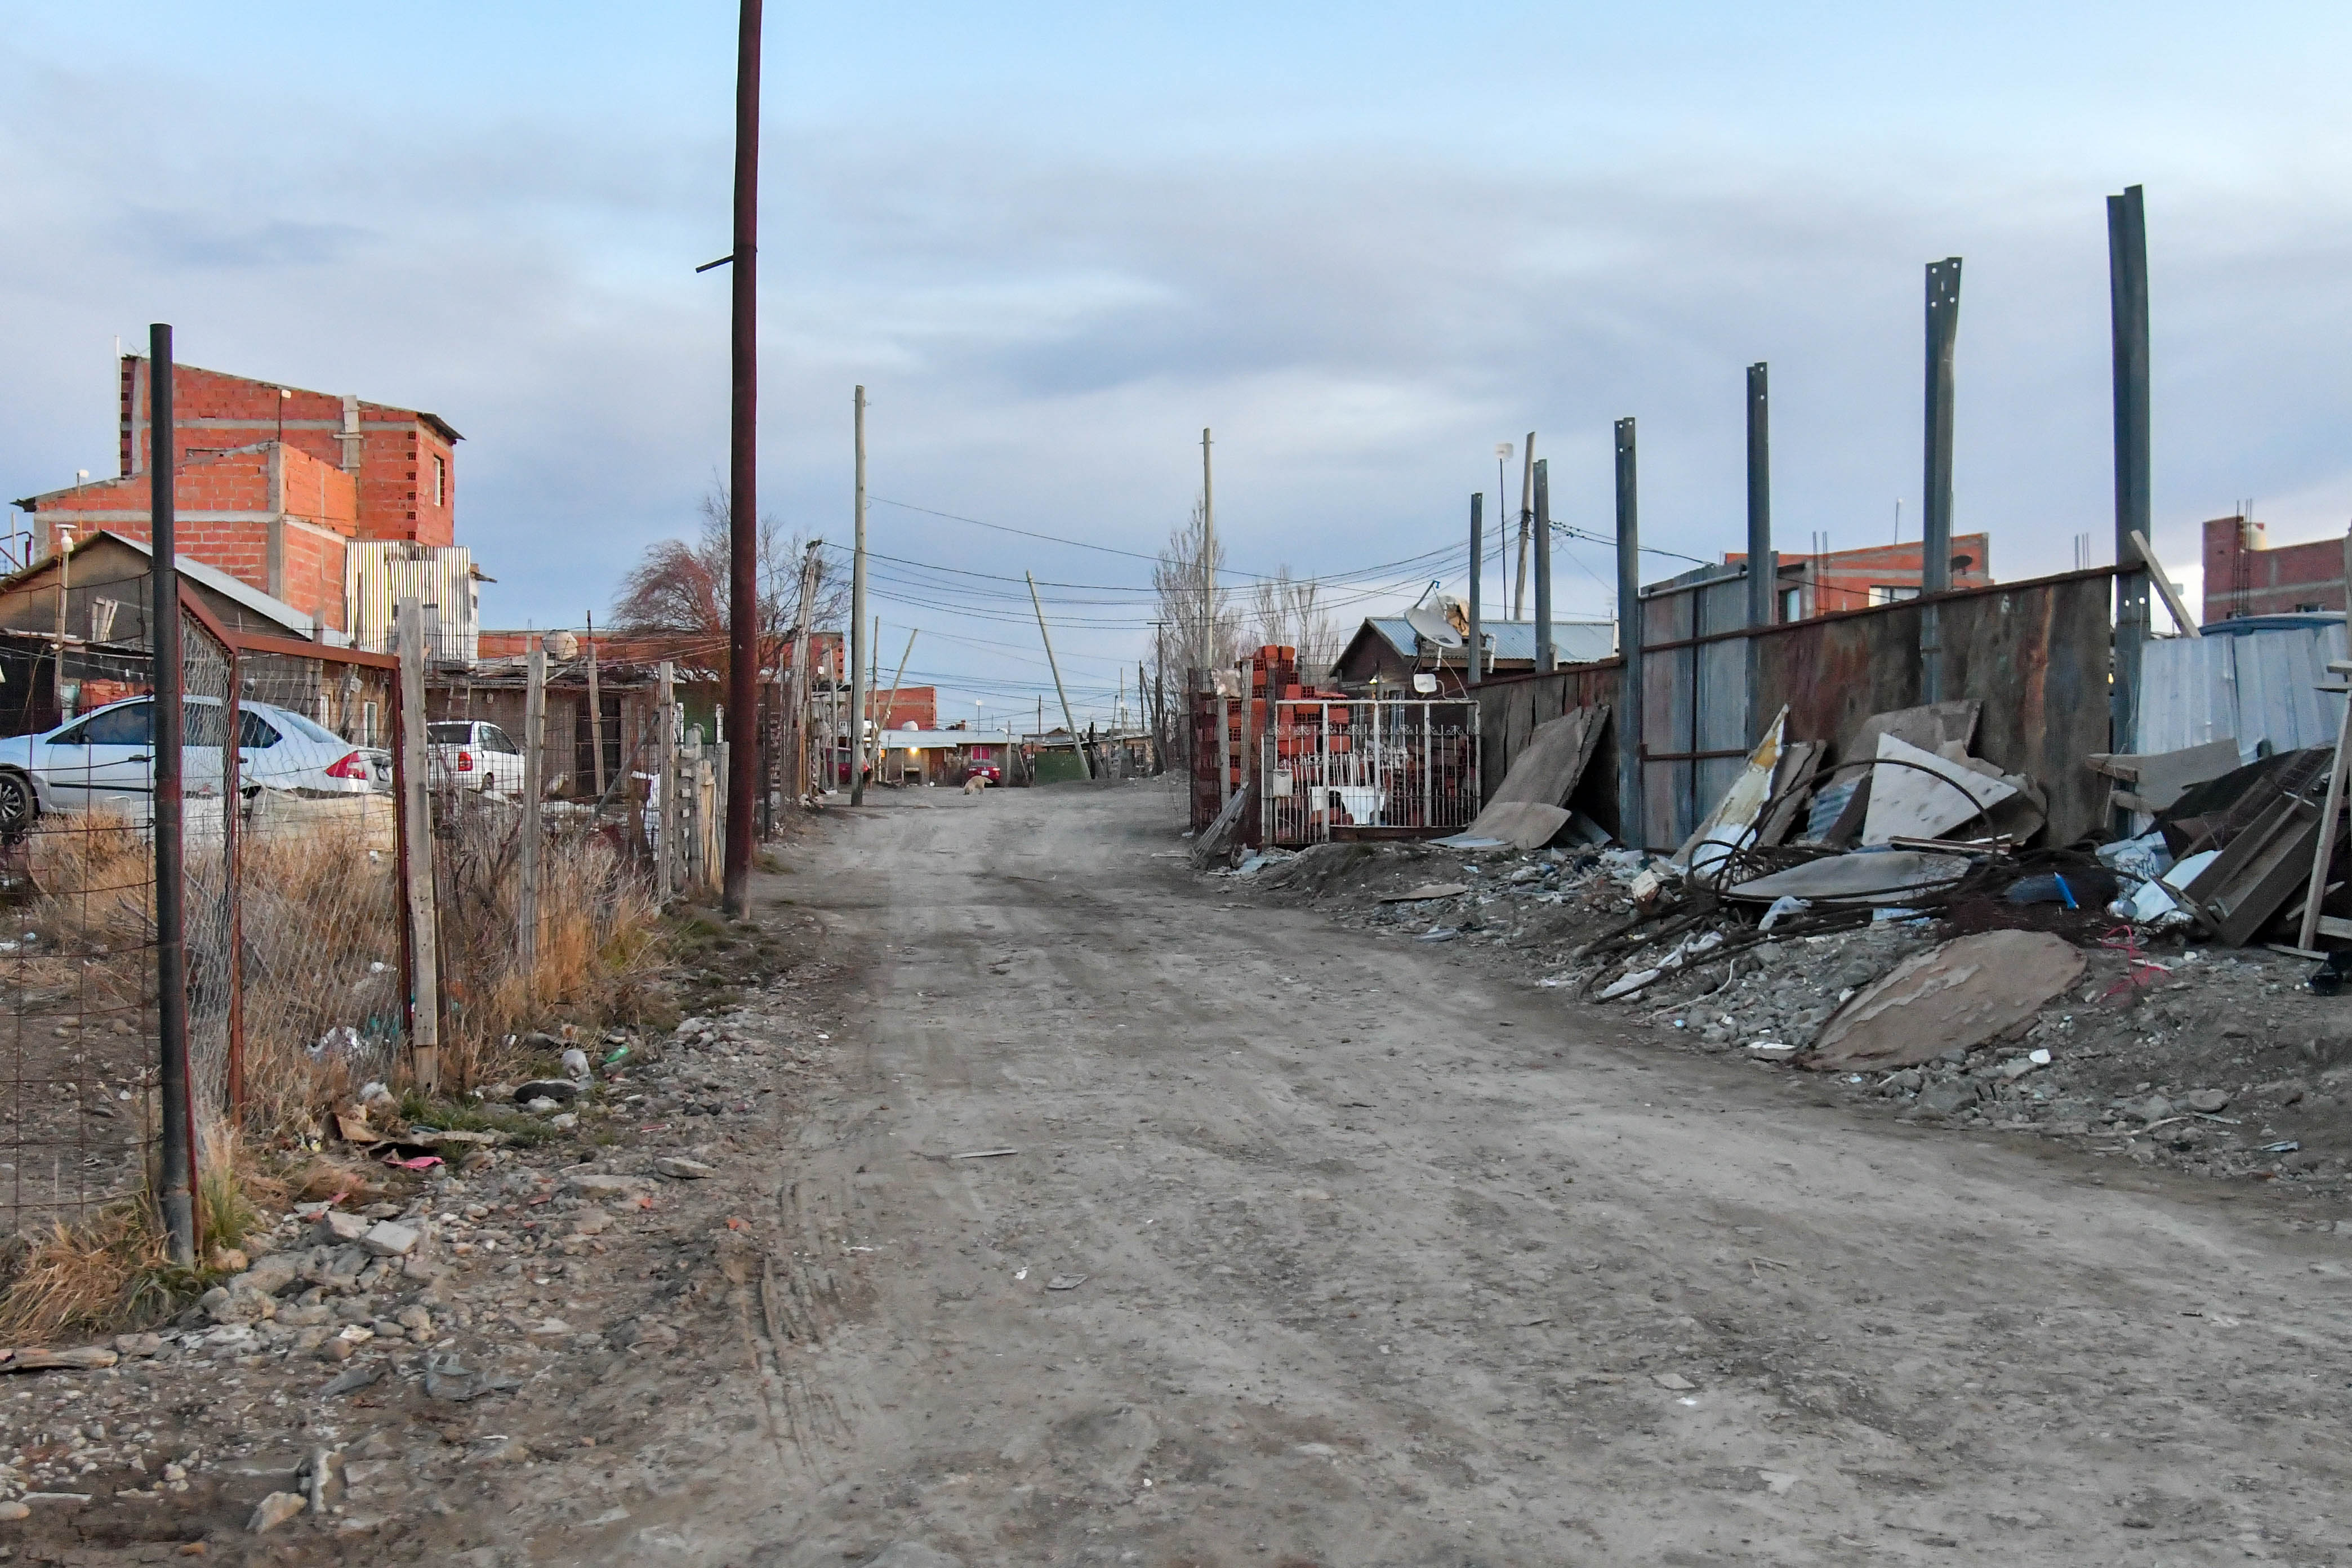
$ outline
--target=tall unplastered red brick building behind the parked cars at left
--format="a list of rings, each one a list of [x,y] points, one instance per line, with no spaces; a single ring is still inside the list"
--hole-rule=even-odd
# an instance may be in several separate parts
[[[353,630],[348,545],[454,543],[461,440],[440,416],[176,364],[172,447],[179,552]],[[59,531],[148,538],[148,360],[122,357],[113,480],[16,501],[40,555]]]

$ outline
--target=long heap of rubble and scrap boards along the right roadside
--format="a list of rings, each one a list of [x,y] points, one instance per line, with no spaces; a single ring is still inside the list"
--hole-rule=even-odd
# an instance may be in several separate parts
[[[2319,919],[2303,910],[2331,750],[2098,757],[2140,832],[2030,849],[2039,792],[1966,755],[1973,705],[1872,724],[1877,766],[1856,780],[1820,776],[1818,748],[1776,726],[1675,856],[1472,827],[1261,851],[1225,875],[1494,954],[1682,1048],[1806,1072],[1903,1121],[2343,1192],[2352,1027],[2326,1001],[2338,964],[2314,976],[2321,954],[2293,940],[2305,924],[2352,938],[2340,849]],[[1599,837],[1569,809],[1534,832]]]

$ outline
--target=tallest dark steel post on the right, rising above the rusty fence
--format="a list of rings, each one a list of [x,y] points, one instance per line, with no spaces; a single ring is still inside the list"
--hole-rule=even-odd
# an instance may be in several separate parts
[[[2140,188],[2107,197],[2107,310],[2114,329],[2114,710],[2110,745],[2136,750],[2147,569],[2131,536],[2150,538],[2147,458],[2147,209]],[[2312,900],[2312,910],[2319,903]],[[2303,943],[2310,947],[2310,940]]]

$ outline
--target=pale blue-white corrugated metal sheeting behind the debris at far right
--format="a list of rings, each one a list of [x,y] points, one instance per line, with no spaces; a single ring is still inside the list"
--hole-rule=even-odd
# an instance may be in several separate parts
[[[2159,637],[2140,654],[2136,752],[2176,752],[2234,738],[2246,762],[2270,741],[2277,752],[2336,745],[2343,693],[2317,691],[2331,658],[2347,656],[2343,616],[2256,616],[2284,625],[2223,621],[2206,637]],[[2216,637],[2227,628],[2225,635]]]

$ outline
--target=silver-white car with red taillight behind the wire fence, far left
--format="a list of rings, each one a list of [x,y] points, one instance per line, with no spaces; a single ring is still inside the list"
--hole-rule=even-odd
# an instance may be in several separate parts
[[[221,701],[181,705],[181,790],[221,795]],[[155,806],[155,698],[108,703],[40,736],[0,741],[0,832],[24,832],[45,811],[120,811],[146,823]],[[268,703],[238,705],[238,783],[306,795],[393,788],[393,755],[353,745]]]

